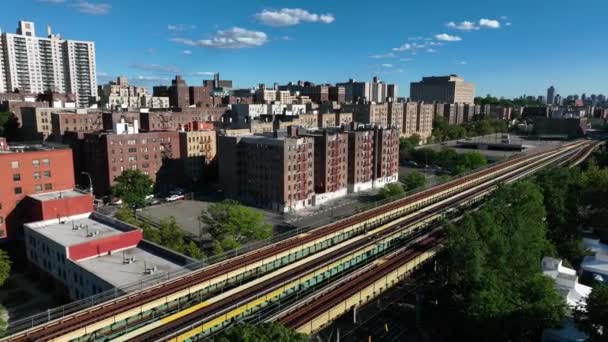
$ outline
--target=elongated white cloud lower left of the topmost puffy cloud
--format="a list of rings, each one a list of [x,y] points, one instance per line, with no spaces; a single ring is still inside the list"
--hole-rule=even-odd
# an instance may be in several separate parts
[[[262,46],[268,43],[268,36],[264,32],[250,31],[240,27],[220,30],[211,39],[192,40],[185,38],[172,38],[172,42],[188,46],[202,46],[217,49],[241,49]]]

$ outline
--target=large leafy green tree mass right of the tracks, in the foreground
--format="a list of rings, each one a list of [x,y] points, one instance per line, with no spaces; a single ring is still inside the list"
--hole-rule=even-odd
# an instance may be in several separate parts
[[[563,299],[539,266],[552,251],[544,217],[538,187],[520,182],[449,227],[434,298],[451,338],[526,340],[560,324]]]

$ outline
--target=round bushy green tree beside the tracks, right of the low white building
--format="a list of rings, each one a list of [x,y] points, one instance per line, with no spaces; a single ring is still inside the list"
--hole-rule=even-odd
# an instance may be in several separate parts
[[[224,250],[272,236],[272,226],[265,222],[262,213],[233,200],[210,204],[201,212],[199,220]]]

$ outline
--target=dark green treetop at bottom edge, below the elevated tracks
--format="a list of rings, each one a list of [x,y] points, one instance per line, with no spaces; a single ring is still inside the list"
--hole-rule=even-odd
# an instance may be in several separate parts
[[[218,342],[308,342],[308,336],[278,323],[234,326],[216,339]]]

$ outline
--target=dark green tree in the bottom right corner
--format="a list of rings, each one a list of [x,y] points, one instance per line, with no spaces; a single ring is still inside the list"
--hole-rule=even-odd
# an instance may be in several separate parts
[[[586,305],[574,310],[574,320],[591,341],[608,339],[608,285],[596,285],[587,297]]]

